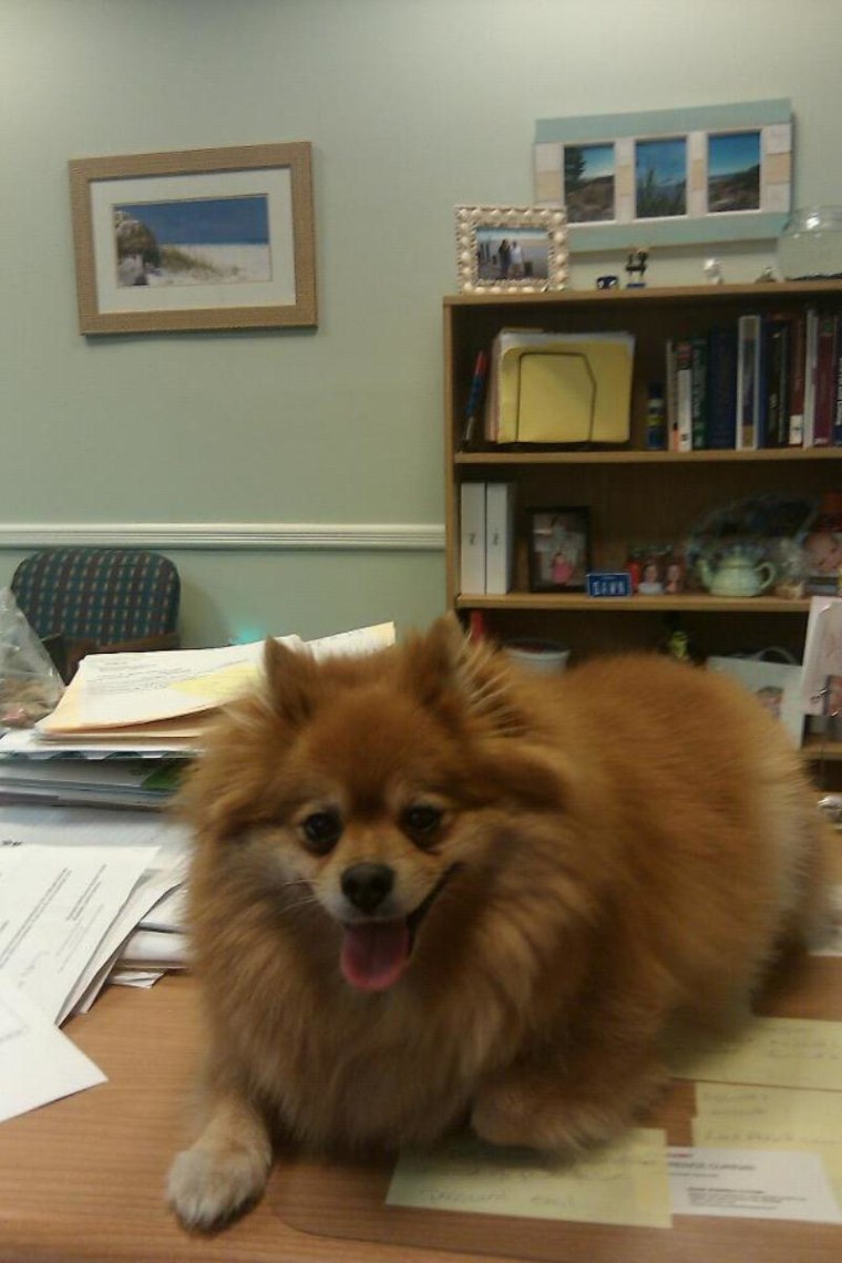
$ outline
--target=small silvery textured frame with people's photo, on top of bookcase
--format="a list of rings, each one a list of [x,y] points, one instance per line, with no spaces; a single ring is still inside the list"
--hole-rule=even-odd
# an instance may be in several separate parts
[[[567,212],[542,206],[457,206],[456,259],[462,293],[563,289]]]

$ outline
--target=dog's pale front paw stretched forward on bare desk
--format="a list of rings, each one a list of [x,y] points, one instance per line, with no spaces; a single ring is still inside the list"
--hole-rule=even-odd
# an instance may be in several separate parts
[[[264,1153],[198,1143],[177,1154],[167,1178],[167,1200],[184,1228],[207,1231],[252,1206],[268,1175]]]

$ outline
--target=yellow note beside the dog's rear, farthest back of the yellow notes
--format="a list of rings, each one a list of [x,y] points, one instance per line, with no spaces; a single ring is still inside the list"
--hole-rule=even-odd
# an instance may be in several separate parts
[[[715,1050],[677,1057],[677,1079],[842,1091],[842,1022],[752,1018]]]

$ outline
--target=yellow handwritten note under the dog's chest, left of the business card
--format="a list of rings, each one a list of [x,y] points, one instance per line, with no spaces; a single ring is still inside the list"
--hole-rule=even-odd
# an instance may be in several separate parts
[[[401,1154],[386,1202],[477,1215],[670,1228],[665,1135],[635,1128],[610,1148],[569,1161],[456,1137],[434,1151]]]

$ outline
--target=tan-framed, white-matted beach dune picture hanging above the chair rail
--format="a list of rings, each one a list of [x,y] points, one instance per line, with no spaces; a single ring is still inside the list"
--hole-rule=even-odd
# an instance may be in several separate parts
[[[317,323],[311,147],[69,163],[82,333]]]

